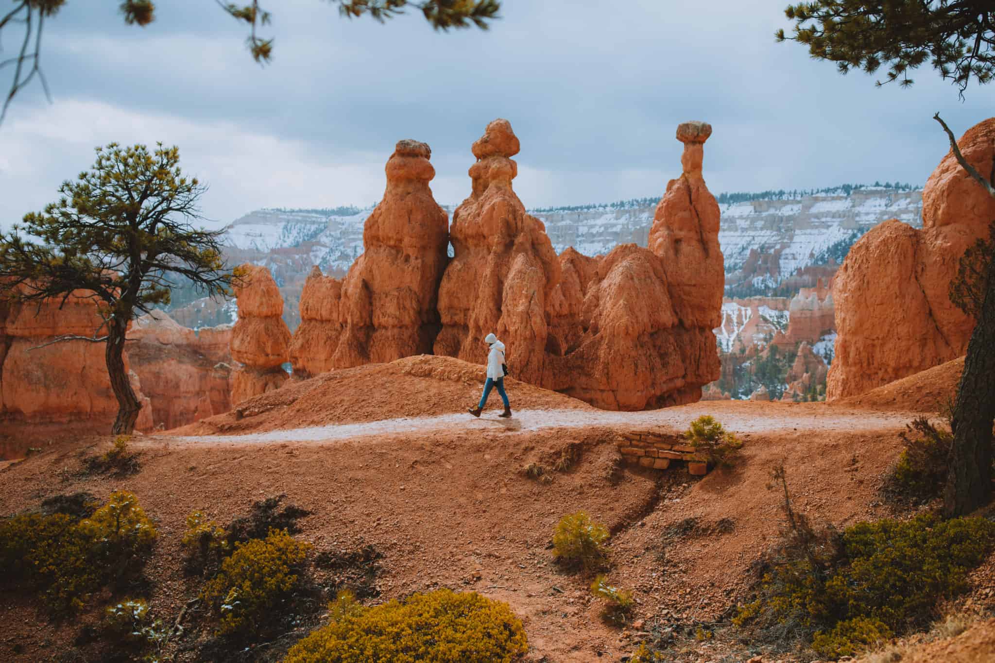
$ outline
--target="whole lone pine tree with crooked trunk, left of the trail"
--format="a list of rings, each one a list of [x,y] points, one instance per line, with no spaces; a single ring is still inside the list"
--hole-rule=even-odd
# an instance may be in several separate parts
[[[140,409],[121,359],[128,321],[168,303],[175,275],[212,297],[231,294],[237,278],[222,258],[223,232],[191,224],[206,188],[183,174],[179,158],[161,144],[99,147],[93,168],[64,182],[57,202],[0,234],[0,282],[13,300],[95,302],[103,322],[83,338],[107,343],[115,433],[131,432]]]

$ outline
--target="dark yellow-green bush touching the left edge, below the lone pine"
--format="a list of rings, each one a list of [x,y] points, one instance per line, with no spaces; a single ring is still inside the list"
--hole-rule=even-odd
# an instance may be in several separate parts
[[[72,611],[101,584],[140,571],[155,537],[134,495],[114,492],[82,521],[62,513],[0,521],[0,568],[15,586],[39,590],[50,609]]]

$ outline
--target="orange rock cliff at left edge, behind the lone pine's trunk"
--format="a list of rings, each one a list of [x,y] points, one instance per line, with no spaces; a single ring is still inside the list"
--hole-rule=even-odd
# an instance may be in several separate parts
[[[54,342],[60,336],[100,336],[103,320],[85,290],[65,299],[7,302],[0,308],[0,416],[28,423],[106,423],[117,414],[110,389],[103,343]],[[5,309],[5,310],[3,310]],[[128,369],[127,357],[124,358]],[[138,379],[129,371],[131,388],[147,406]],[[143,407],[136,427],[152,427]]]

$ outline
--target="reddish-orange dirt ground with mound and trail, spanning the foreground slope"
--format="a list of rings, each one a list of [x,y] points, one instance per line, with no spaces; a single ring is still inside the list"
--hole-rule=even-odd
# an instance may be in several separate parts
[[[896,459],[897,433],[913,416],[894,412],[895,403],[888,412],[867,403],[709,402],[603,413],[509,381],[515,418],[497,419],[492,406],[474,419],[461,412],[478,398],[480,373],[458,360],[415,357],[291,384],[242,404],[241,419],[224,414],[176,434],[136,437],[142,470],[122,479],[76,474],[81,452],[95,444],[102,450],[106,438],[56,442],[0,470],[0,514],[78,490],[100,498],[113,489],[135,492],[159,524],[148,568],[158,580],[150,602],[172,619],[196,595],[180,571],[186,515],[203,508],[223,523],[255,500],[286,493],[313,512],[298,536],[318,551],[362,542],[384,552],[382,599],[437,586],[475,589],[507,601],[522,619],[529,661],[619,660],[645,637],[636,626],[693,632],[742,597],[750,565],[778,533],[778,496],[765,488],[774,464],[783,462],[796,508],[816,522],[845,527],[889,515],[879,496],[882,475]],[[744,438],[733,469],[698,479],[684,468],[619,468],[618,430],[650,424],[678,430],[704,413]],[[288,441],[300,426],[324,427]],[[572,442],[580,443],[579,461],[552,472],[551,482],[521,472],[530,462],[550,467]],[[631,588],[637,601],[629,629],[603,623],[588,590],[591,578],[562,571],[548,550],[559,518],[580,509],[613,534],[610,578]],[[690,518],[697,527],[675,535]],[[731,531],[720,533],[720,520]],[[990,559],[976,575],[972,594],[987,610],[995,608],[993,566]],[[671,650],[672,660],[733,661],[756,653],[729,632],[703,643],[686,638]],[[48,659],[70,646],[71,635],[30,601],[0,595],[0,658],[20,643],[25,653],[14,660]],[[193,660],[184,656],[177,660]]]

